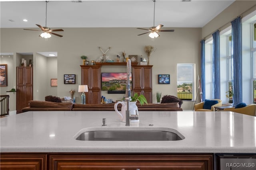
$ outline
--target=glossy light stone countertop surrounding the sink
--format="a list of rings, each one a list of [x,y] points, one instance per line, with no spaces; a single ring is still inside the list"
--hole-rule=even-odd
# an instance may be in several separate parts
[[[228,111],[140,111],[130,127],[115,111],[29,111],[2,117],[1,152],[256,153],[256,117]],[[81,129],[172,128],[180,141],[79,141]]]

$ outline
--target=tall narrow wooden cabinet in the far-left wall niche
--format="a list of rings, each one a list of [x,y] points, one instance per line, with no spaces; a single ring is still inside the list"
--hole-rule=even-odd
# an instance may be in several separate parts
[[[28,107],[28,101],[33,100],[33,67],[16,68],[16,110],[22,112],[22,108]]]

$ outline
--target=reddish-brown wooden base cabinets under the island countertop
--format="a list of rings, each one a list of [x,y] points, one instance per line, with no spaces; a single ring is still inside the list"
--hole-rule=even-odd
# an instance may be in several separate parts
[[[204,153],[1,153],[1,170],[213,170]]]

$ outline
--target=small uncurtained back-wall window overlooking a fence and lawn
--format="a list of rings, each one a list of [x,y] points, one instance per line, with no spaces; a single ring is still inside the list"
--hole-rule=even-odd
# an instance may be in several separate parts
[[[177,64],[177,96],[181,100],[195,100],[195,64]]]

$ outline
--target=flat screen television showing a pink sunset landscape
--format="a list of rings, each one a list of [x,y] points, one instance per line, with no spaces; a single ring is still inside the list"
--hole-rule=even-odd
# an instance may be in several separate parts
[[[126,72],[102,72],[101,90],[108,90],[108,93],[125,94]],[[132,88],[132,74],[130,75],[130,88]]]

